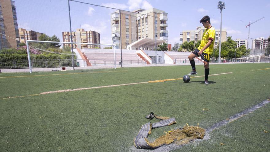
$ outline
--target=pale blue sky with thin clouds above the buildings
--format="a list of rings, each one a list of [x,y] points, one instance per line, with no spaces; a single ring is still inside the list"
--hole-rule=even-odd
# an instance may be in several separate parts
[[[19,27],[55,34],[62,41],[62,32],[69,31],[67,0],[14,0],[17,8]],[[168,42],[179,42],[179,32],[195,30],[202,26],[199,21],[209,15],[211,24],[220,29],[220,11],[218,0],[78,0],[96,5],[109,6],[132,11],[136,8],[156,8],[168,13]],[[222,29],[233,39],[247,39],[249,21],[262,20],[251,25],[252,38],[270,36],[270,1],[269,0],[224,0],[226,9],[222,15]],[[77,28],[94,30],[100,33],[101,43],[111,44],[110,13],[112,9],[100,8],[70,1],[72,31]],[[251,42],[251,41],[250,41]]]

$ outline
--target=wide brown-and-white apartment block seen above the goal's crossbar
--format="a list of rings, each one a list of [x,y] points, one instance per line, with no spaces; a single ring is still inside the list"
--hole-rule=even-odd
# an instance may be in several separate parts
[[[72,41],[74,43],[100,44],[100,34],[95,31],[85,31],[84,29],[76,29],[76,31],[72,33],[62,32],[62,36],[63,36],[63,42],[71,42],[71,37],[72,37]],[[71,47],[71,44],[64,44],[64,46]],[[80,49],[84,49],[84,48],[93,49],[93,48],[100,48],[100,45],[77,44],[74,47],[78,47]]]

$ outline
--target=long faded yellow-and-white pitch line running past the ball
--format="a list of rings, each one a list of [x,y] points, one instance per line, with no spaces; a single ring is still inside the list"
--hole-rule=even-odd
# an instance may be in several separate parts
[[[265,68],[265,69],[270,69],[270,68]],[[265,70],[265,69],[258,69],[258,70]],[[242,71],[242,72],[245,72],[245,71]],[[231,73],[233,73],[233,72],[210,74],[209,76],[216,76],[216,75],[222,75],[222,74],[231,74]],[[203,76],[192,76],[191,78],[196,78],[196,77],[203,77]],[[42,92],[40,94],[34,94],[34,95],[43,95],[43,94],[58,93],[58,92],[79,91],[79,90],[96,89],[96,88],[108,88],[108,87],[117,87],[117,86],[133,85],[133,84],[156,83],[156,82],[165,82],[165,81],[173,81],[173,80],[181,80],[181,79],[183,79],[183,78],[155,80],[155,81],[138,82],[138,83],[131,83],[131,84],[107,85],[107,86],[91,87],[91,88],[66,89],[66,90]],[[27,97],[27,96],[34,96],[34,95],[23,95],[23,96],[15,96],[15,97],[8,97],[8,98],[2,98],[2,99],[20,98],[20,97]],[[0,99],[0,100],[2,100],[2,99]]]

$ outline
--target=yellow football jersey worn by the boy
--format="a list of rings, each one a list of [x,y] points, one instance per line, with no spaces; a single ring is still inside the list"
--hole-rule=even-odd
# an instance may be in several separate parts
[[[206,48],[203,52],[207,54],[211,54],[214,50],[214,42],[216,37],[216,31],[214,27],[210,27],[209,29],[205,29],[203,32],[203,38],[201,40],[201,45],[197,48],[199,50],[203,49],[203,47],[207,44],[207,42],[211,39],[212,43],[208,48]]]

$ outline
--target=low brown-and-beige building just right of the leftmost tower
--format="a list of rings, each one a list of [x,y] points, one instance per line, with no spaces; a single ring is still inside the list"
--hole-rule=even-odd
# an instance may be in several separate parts
[[[19,36],[20,36],[20,42],[21,43],[26,43],[26,40],[35,40],[39,41],[39,37],[43,33],[39,33],[36,31],[28,31],[26,29],[19,28]]]

